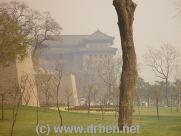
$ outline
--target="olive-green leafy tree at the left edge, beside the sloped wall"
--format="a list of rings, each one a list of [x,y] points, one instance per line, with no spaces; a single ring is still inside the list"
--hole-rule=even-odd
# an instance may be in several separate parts
[[[21,27],[6,12],[0,12],[0,65],[8,65],[27,55],[28,41]]]

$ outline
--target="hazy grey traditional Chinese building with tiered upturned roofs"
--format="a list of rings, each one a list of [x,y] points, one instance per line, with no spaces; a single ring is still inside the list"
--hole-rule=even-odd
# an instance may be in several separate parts
[[[57,41],[60,38],[61,40]],[[97,63],[113,57],[117,51],[112,47],[114,37],[99,30],[91,35],[61,35],[61,37],[51,36],[51,39],[45,42],[47,48],[41,52],[40,64],[43,68],[53,71],[56,61],[62,59],[64,70],[73,73],[76,77],[79,97],[82,97],[84,91],[85,80],[87,80],[85,78],[92,75],[91,72],[94,73],[94,70],[88,69],[96,68]]]

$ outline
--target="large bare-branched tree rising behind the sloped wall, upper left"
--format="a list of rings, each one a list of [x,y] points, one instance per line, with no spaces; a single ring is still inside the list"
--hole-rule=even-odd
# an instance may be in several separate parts
[[[33,57],[37,49],[45,47],[44,42],[51,39],[49,35],[60,35],[62,30],[49,12],[39,13],[30,9],[24,2],[1,2],[0,13],[8,14],[21,28],[21,34],[27,36],[24,44],[32,45]],[[61,40],[61,37],[57,40]]]

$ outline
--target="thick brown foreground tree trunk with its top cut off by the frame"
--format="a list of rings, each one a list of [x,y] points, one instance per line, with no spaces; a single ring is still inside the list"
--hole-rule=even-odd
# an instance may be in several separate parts
[[[132,125],[133,97],[137,82],[136,53],[132,28],[136,4],[132,0],[114,0],[113,5],[118,15],[123,52],[118,118],[119,128],[123,129],[124,125]]]

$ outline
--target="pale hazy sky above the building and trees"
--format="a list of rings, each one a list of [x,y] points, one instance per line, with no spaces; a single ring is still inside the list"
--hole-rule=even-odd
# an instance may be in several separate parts
[[[1,0],[0,0],[1,1]],[[24,0],[38,11],[50,11],[63,27],[62,34],[91,34],[97,29],[114,36],[114,46],[120,48],[117,16],[113,0]],[[174,18],[175,0],[135,0],[134,40],[141,76],[155,80],[144,66],[143,55],[148,47],[170,43],[181,50],[181,20]]]

